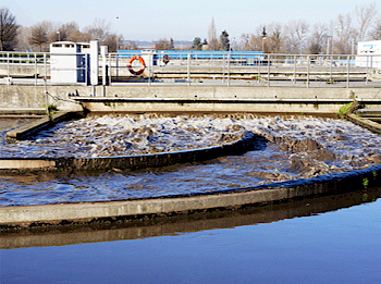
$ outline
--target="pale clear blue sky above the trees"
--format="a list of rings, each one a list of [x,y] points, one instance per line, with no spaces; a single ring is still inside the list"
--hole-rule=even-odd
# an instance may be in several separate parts
[[[353,12],[367,0],[0,0],[16,16],[17,24],[33,26],[42,21],[69,23],[75,21],[81,28],[96,18],[111,23],[111,32],[126,40],[193,40],[208,37],[212,17],[217,35],[226,30],[231,40],[242,34],[271,22],[286,24],[292,20],[306,20],[314,24],[329,23],[339,14]],[[378,4],[380,9],[380,4]],[[380,15],[380,14],[379,14]]]

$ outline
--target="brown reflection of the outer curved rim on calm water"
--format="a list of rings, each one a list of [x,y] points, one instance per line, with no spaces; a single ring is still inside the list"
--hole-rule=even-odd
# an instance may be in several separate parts
[[[192,215],[176,215],[155,221],[142,221],[125,227],[124,224],[105,224],[79,229],[52,229],[2,233],[1,249],[21,247],[63,246],[122,239],[139,239],[176,235],[216,229],[229,229],[285,219],[321,214],[353,206],[373,202],[381,197],[381,188],[361,189],[348,194],[309,198],[290,203],[247,207],[235,211],[209,211]],[[155,222],[155,223],[153,223]]]

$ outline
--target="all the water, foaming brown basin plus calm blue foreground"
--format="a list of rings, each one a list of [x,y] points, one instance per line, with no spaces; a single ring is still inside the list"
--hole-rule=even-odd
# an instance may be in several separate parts
[[[380,138],[318,118],[99,116],[5,144],[2,157],[109,156],[208,147],[245,131],[244,156],[144,171],[2,174],[0,206],[176,195],[308,178],[380,163]],[[359,188],[360,189],[360,188]],[[222,218],[0,237],[4,283],[378,283],[381,189]]]

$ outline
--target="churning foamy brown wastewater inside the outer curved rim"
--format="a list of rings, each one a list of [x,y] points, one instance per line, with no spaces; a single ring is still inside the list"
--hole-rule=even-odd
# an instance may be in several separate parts
[[[327,118],[114,114],[63,122],[28,140],[7,144],[5,129],[10,127],[14,126],[2,122],[0,157],[110,157],[187,150],[233,141],[247,131],[263,139],[243,156],[159,169],[3,173],[0,206],[205,193],[342,173],[381,162],[379,135]]]

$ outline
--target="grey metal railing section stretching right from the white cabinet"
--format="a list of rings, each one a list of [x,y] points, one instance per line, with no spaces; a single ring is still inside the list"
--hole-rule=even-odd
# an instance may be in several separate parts
[[[153,53],[143,76],[128,72],[133,55],[145,58],[144,53],[108,54],[109,85],[381,86],[381,55],[165,52]],[[167,64],[164,55],[170,58]]]

